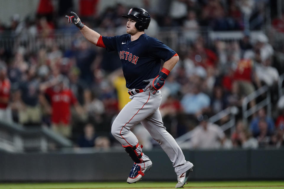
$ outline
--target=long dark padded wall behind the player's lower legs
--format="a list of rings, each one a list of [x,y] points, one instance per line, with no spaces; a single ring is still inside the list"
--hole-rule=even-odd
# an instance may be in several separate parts
[[[143,180],[175,181],[162,150],[145,151],[153,167]],[[283,179],[284,150],[187,151],[195,165],[190,180]],[[132,167],[124,151],[10,154],[0,152],[0,181],[124,181]]]

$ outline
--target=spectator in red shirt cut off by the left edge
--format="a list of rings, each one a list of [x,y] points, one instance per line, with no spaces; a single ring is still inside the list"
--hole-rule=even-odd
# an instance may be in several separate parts
[[[0,65],[0,120],[12,122],[12,111],[8,107],[11,84],[7,78],[7,68]]]

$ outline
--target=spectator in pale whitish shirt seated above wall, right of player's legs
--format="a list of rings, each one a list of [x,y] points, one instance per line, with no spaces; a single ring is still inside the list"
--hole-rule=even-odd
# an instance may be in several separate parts
[[[199,121],[199,125],[192,131],[192,147],[201,149],[220,148],[226,140],[222,129],[216,124],[209,123],[207,115],[201,115]]]

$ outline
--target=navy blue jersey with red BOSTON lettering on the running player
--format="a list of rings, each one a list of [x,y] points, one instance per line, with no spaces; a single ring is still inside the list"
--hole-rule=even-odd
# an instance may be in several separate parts
[[[167,61],[176,54],[171,48],[156,38],[142,34],[131,41],[131,35],[104,37],[106,50],[117,51],[122,62],[122,70],[128,89],[143,89],[143,80],[155,78],[160,71],[161,59]]]

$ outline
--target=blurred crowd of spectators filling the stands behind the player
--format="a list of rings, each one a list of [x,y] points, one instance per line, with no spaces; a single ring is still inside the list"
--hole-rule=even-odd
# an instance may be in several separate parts
[[[167,130],[175,138],[193,130],[193,138],[183,148],[283,146],[284,104],[278,100],[277,81],[283,73],[279,60],[284,51],[275,49],[264,33],[250,35],[250,30],[264,29],[265,8],[275,5],[266,0],[165,1],[159,2],[159,11],[143,1],[151,15],[146,34],[159,39],[166,28],[178,28],[184,36],[188,32],[195,36],[186,44],[177,42],[174,50],[180,61],[162,88],[160,111]],[[40,1],[37,15],[25,20],[14,15],[9,27],[0,21],[0,38],[24,39],[28,34],[43,39],[36,50],[21,40],[16,50],[0,46],[0,119],[50,127],[79,147],[119,145],[110,128],[129,101],[119,56],[94,47],[78,28],[68,25],[64,15],[75,9],[72,1],[58,1],[56,7],[50,2]],[[99,28],[102,35],[125,33],[121,15],[131,7],[116,4],[98,14],[99,0],[79,2],[78,16],[85,25]],[[283,32],[283,19],[271,14],[272,27]],[[202,35],[204,28],[244,32],[240,40],[209,43]],[[58,31],[71,34],[71,46],[52,40]],[[239,111],[233,133],[224,133],[217,125],[229,118],[208,122],[208,117],[227,107],[241,109],[243,98],[264,85],[272,92],[272,117],[262,108],[244,123]],[[249,107],[263,98],[252,100]],[[146,148],[156,146],[141,126],[133,132]]]

